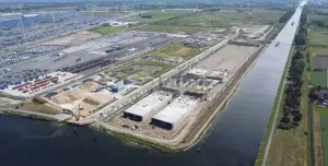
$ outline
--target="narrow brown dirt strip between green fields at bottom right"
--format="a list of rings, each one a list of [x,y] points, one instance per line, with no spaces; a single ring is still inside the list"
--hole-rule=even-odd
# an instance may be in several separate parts
[[[319,114],[314,111],[314,144],[316,155],[316,166],[324,166],[323,144],[321,144],[321,127]]]

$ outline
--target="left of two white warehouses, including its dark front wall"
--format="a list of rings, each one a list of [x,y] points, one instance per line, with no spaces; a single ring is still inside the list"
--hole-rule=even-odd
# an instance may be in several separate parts
[[[172,93],[156,91],[125,110],[124,117],[134,121],[143,121],[168,105],[172,98]]]

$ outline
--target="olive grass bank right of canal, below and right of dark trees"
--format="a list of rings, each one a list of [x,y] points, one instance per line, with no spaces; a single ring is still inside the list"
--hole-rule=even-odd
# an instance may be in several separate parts
[[[304,58],[305,60],[305,58]],[[307,66],[307,63],[306,63]],[[305,68],[306,69],[306,68]],[[308,94],[308,78],[307,71],[303,73],[303,86],[301,97],[301,112],[303,117],[307,117],[307,94]],[[283,95],[285,99],[285,94]],[[283,116],[283,107],[280,107],[278,120]],[[304,132],[307,131],[307,118],[303,118],[300,126],[291,130],[274,130],[272,138],[272,144],[270,147],[268,163],[270,166],[302,166],[307,165],[307,135]]]

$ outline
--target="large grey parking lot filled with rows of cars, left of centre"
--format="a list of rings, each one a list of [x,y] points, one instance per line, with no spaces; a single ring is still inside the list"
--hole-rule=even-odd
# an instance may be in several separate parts
[[[125,32],[7,66],[2,68],[0,76],[3,79],[1,81],[21,81],[24,79],[22,75],[24,70],[46,72],[61,70],[87,74],[90,70],[142,56],[179,39],[177,36],[155,33]]]

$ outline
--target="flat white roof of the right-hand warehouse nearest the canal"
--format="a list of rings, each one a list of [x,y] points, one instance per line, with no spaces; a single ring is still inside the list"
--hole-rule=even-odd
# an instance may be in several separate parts
[[[196,109],[197,105],[197,98],[183,95],[174,99],[168,106],[157,112],[153,119],[176,124],[190,115],[190,112]]]

